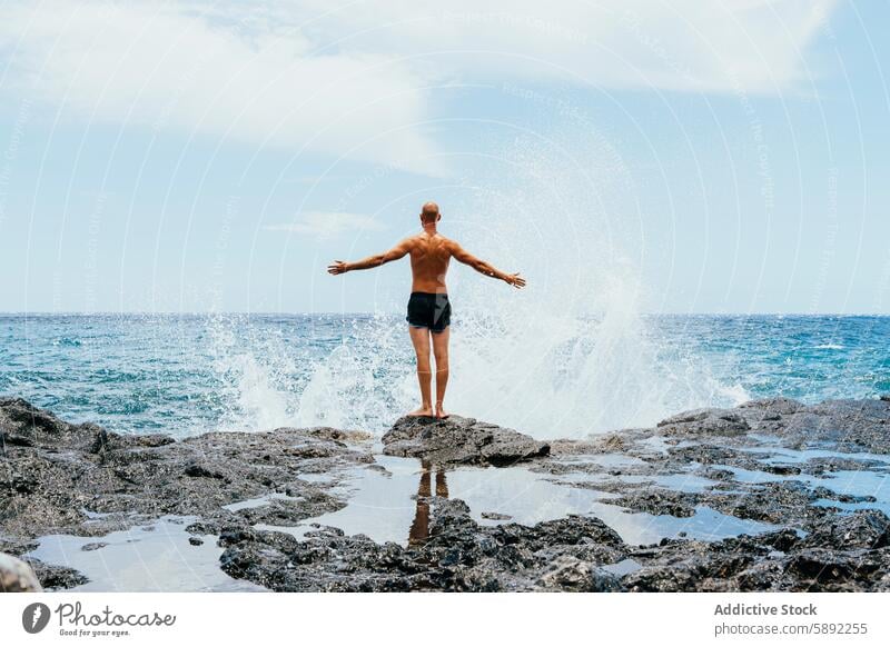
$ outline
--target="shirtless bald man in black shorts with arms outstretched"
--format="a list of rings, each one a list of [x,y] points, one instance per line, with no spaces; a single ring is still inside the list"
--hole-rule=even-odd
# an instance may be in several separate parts
[[[500,279],[514,288],[525,287],[525,279],[504,273],[464,250],[456,241],[442,236],[436,227],[442,220],[438,205],[427,202],[421,211],[423,231],[406,238],[389,251],[369,256],[356,262],[336,260],[328,266],[332,275],[343,275],[353,270],[373,269],[405,255],[411,255],[412,293],[408,300],[408,332],[417,354],[417,381],[421,384],[421,408],[409,416],[435,416],[447,418],[443,408],[445,389],[448,386],[448,338],[451,331],[452,307],[448,302],[448,288],[445,275],[452,258],[468,265],[486,277]],[[429,347],[436,358],[436,406],[433,408]]]

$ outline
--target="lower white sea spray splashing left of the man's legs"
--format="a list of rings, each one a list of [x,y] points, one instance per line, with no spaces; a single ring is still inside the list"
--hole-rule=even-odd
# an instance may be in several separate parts
[[[217,428],[385,430],[416,398],[411,344],[392,317],[208,322],[224,410]]]

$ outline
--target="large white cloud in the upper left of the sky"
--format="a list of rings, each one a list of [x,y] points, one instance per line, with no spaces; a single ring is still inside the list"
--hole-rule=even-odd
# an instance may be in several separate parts
[[[212,8],[212,3],[207,4]],[[198,6],[198,10],[200,7]],[[7,90],[78,119],[140,123],[438,172],[423,84],[362,51],[314,51],[299,31],[201,16],[190,4],[41,2],[4,7]]]

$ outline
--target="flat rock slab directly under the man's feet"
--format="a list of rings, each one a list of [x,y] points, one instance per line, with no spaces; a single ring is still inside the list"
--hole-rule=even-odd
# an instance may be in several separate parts
[[[461,416],[446,420],[404,416],[384,435],[383,445],[388,456],[436,465],[503,467],[550,454],[548,444],[531,436]]]

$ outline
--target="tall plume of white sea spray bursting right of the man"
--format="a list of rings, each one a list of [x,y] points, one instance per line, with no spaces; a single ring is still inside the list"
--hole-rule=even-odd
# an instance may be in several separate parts
[[[552,438],[734,404],[693,351],[663,344],[641,317],[633,183],[620,169],[594,180],[574,160],[597,151],[573,155],[581,146],[514,145],[463,208],[465,247],[530,285],[517,293],[454,277],[452,408]]]

